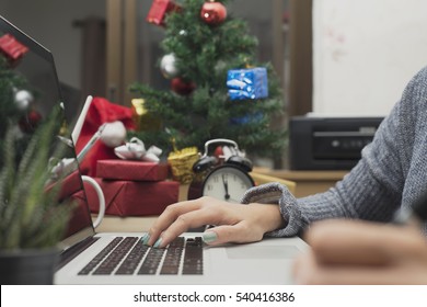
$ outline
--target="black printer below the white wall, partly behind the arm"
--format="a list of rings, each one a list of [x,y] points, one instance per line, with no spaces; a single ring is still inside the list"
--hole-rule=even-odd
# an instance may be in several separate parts
[[[291,170],[349,170],[384,117],[295,116],[289,121]]]

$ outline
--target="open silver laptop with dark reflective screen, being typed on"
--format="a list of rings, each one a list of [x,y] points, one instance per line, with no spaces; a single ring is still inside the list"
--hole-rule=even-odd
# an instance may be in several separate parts
[[[30,81],[39,81],[34,75],[43,69],[44,83],[48,87],[38,88],[38,91],[45,91],[49,100],[39,102],[39,107],[44,113],[48,112],[62,101],[51,53],[0,16],[0,36],[3,34],[13,35],[28,48],[16,70]],[[65,107],[67,113],[67,101]],[[69,112],[67,121],[73,122],[72,115]],[[78,194],[80,201],[60,245],[62,253],[55,284],[293,283],[292,262],[309,248],[298,237],[208,247],[203,243],[200,232],[185,232],[169,247],[153,249],[142,245],[143,232],[95,232],[73,148],[72,157],[66,158],[76,160],[76,169],[71,169],[66,179],[64,195]]]

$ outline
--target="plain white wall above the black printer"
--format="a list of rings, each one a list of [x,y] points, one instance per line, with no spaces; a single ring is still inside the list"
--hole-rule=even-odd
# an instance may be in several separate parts
[[[313,0],[313,112],[386,115],[427,65],[427,1]]]

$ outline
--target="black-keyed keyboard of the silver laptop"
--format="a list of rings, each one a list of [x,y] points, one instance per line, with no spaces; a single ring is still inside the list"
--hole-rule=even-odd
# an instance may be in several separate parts
[[[203,274],[201,237],[178,237],[165,249],[142,245],[139,237],[116,237],[79,275]]]

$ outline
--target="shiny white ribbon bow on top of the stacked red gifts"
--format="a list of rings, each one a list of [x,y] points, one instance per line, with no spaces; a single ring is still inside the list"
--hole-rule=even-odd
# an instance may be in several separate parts
[[[126,143],[125,145],[114,148],[114,154],[124,160],[159,162],[159,157],[162,155],[162,149],[155,146],[150,146],[150,148],[146,150],[143,141],[137,137],[132,137],[130,141]]]

